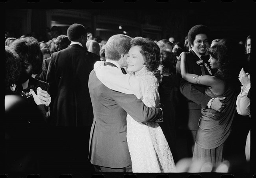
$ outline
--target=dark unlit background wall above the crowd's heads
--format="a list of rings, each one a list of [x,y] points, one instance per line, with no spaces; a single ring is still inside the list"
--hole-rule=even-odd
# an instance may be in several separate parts
[[[104,20],[102,20],[104,18]],[[105,19],[106,18],[106,19]],[[250,14],[247,9],[219,8],[208,9],[9,9],[6,11],[5,29],[13,37],[28,33],[45,34],[45,28],[51,28],[52,20],[62,24],[82,23],[96,33],[101,31],[102,39],[122,33],[118,23],[122,24],[130,36],[149,37],[154,40],[169,39],[184,42],[189,29],[196,24],[204,24],[212,31],[212,39],[231,37],[237,42],[250,35]],[[145,25],[149,28],[145,28]],[[66,27],[67,28],[67,27]],[[116,29],[115,29],[116,28]],[[63,30],[65,32],[65,29]],[[63,33],[64,33],[63,32]],[[96,34],[95,34],[96,36]]]

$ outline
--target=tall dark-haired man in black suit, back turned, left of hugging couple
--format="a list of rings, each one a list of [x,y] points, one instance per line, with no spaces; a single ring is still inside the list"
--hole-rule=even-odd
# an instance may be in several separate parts
[[[61,165],[61,173],[91,169],[86,162],[93,123],[88,78],[94,63],[100,61],[100,56],[87,51],[87,31],[82,24],[70,25],[67,36],[69,47],[52,54],[46,75],[52,96],[50,119],[59,130],[55,136],[63,141],[55,145],[59,156],[55,165]]]

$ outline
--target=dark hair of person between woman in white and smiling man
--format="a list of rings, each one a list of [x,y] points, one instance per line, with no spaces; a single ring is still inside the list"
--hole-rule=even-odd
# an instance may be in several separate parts
[[[174,61],[175,61],[175,55],[171,51],[164,50],[161,52],[161,61],[160,64],[163,66],[163,72],[172,73],[174,72]]]

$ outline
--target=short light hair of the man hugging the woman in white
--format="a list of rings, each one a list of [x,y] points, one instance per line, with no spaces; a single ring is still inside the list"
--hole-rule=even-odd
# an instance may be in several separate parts
[[[123,34],[111,36],[105,45],[106,59],[118,61],[121,55],[128,54],[131,44],[131,37]]]

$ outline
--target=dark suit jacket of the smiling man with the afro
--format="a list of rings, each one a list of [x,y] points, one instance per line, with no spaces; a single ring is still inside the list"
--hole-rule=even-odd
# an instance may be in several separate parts
[[[197,75],[202,75],[200,66],[196,61],[200,60],[193,50],[186,53],[186,62],[189,73],[194,73]],[[205,62],[208,63],[208,60]],[[204,66],[204,65],[203,65]],[[210,64],[208,63],[208,66]],[[204,66],[204,71],[206,75],[210,75],[206,67]],[[201,108],[206,108],[207,103],[210,101],[211,97],[204,94],[206,86],[192,84],[188,81],[182,79],[180,72],[180,57],[176,64],[176,86],[180,89],[180,93],[186,97],[184,101],[186,107],[189,109],[188,114],[188,128],[189,130],[197,130],[198,120],[201,116]],[[182,98],[184,99],[184,98]],[[185,107],[182,108],[183,113],[186,113]]]

